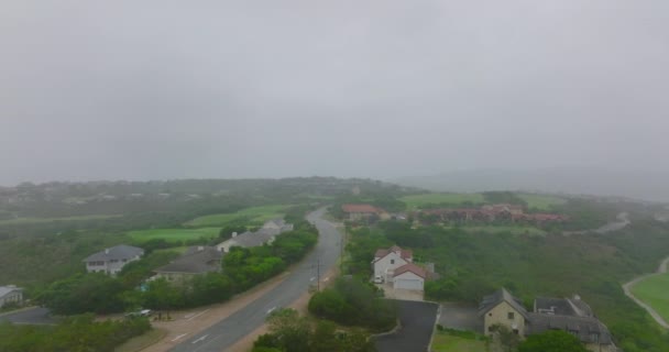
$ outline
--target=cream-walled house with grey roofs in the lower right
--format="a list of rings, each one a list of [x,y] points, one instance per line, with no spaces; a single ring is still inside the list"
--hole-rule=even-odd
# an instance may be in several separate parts
[[[520,300],[502,288],[483,298],[479,315],[483,317],[484,333],[491,336],[493,326],[501,324],[525,338],[547,330],[563,330],[590,351],[615,352],[611,332],[579,296],[573,298],[536,298],[534,311],[527,311]]]

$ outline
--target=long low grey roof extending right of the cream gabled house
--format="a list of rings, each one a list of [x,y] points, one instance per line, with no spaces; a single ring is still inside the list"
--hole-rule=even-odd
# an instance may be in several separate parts
[[[558,316],[530,312],[528,314],[526,333],[541,333],[547,330],[563,330],[575,334],[581,342],[611,344],[611,332],[597,318]],[[596,340],[594,340],[596,336]]]

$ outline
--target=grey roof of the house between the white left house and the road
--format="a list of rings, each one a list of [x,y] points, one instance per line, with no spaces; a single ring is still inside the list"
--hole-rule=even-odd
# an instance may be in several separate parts
[[[165,266],[158,267],[155,272],[185,274],[217,272],[221,268],[222,257],[223,253],[212,246],[190,248],[186,251],[186,254]]]

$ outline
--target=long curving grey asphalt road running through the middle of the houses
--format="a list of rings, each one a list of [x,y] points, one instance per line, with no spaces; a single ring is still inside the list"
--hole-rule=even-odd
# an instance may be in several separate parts
[[[228,318],[215,323],[189,340],[177,344],[171,351],[220,352],[263,324],[267,314],[274,309],[289,306],[316,283],[318,267],[320,273],[332,268],[340,254],[341,233],[327,220],[322,220],[325,209],[307,216],[318,229],[318,244],[288,277],[261,298],[238,310]],[[317,265],[320,263],[320,265]],[[322,277],[321,277],[322,278]]]

